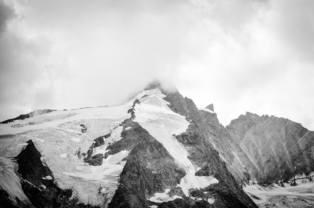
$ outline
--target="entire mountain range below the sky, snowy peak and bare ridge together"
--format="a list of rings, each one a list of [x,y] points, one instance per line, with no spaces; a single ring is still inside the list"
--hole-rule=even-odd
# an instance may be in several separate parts
[[[0,123],[0,208],[314,206],[314,132],[247,112],[226,127],[153,82],[124,104]]]

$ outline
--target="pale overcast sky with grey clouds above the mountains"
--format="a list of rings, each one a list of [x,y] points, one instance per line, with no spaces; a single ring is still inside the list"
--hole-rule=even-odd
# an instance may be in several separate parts
[[[314,1],[0,0],[0,120],[116,105],[154,79],[219,121],[314,130]]]

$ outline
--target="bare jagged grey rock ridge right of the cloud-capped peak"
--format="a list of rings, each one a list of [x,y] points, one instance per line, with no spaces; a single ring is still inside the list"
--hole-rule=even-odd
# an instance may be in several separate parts
[[[237,145],[238,157],[259,184],[288,182],[314,169],[314,132],[299,123],[246,112],[226,129],[233,138],[228,141]]]

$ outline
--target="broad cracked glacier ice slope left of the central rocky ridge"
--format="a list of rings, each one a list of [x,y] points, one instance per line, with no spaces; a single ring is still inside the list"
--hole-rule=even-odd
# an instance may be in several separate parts
[[[106,165],[101,167],[88,166],[83,162],[84,156],[81,154],[87,152],[96,137],[110,133],[127,119],[127,110],[131,106],[132,103],[126,103],[113,107],[54,111],[1,124],[0,134],[3,136],[0,140],[0,156],[17,156],[23,144],[32,139],[61,189],[72,189],[73,197],[84,204],[106,204],[118,186],[123,164],[106,161]],[[85,133],[82,132],[82,124],[87,127]],[[115,159],[113,162],[116,162]]]

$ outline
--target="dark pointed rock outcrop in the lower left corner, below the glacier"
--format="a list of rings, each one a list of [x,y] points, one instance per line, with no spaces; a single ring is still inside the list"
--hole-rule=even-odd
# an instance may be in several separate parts
[[[33,141],[30,139],[26,143],[28,144],[15,157],[18,164],[15,174],[20,178],[27,200],[12,199],[6,190],[0,189],[0,208],[92,207],[79,203],[76,198],[70,199],[72,190],[58,188],[52,171],[41,161],[41,153]]]

